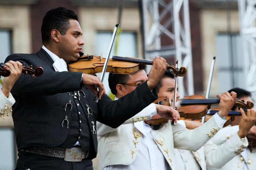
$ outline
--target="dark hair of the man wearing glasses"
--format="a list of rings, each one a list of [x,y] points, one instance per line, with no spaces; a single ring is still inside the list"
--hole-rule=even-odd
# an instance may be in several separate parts
[[[140,65],[139,70],[145,70],[145,65]],[[126,83],[129,80],[129,74],[113,74],[109,73],[108,77],[108,85],[111,90],[111,92],[116,95],[116,85],[120,83]]]

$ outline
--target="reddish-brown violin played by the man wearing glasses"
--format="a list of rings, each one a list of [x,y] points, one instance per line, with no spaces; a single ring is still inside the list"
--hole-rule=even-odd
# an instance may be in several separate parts
[[[184,119],[198,119],[207,114],[208,109],[211,108],[211,104],[219,103],[219,99],[206,99],[203,95],[196,94],[185,96],[183,99],[177,99],[177,103],[178,102],[179,105],[176,110],[179,112],[180,117],[183,117]],[[154,101],[154,103],[170,106],[169,98],[167,97],[159,97]],[[253,103],[251,101],[247,101],[245,104],[243,101],[235,100],[234,105],[238,108],[244,109],[245,112],[247,109],[251,109],[253,107]],[[199,119],[198,121],[201,120]],[[145,121],[145,123],[149,125],[159,125],[164,122],[168,122],[168,119],[161,118],[159,115],[154,115],[151,120]]]

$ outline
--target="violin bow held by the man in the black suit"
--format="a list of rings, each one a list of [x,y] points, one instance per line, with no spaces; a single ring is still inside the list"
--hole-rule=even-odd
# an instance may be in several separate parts
[[[109,57],[110,57],[110,54],[111,54],[111,50],[112,50],[112,47],[113,47],[113,44],[114,44],[114,40],[115,40],[118,28],[119,28],[119,24],[116,24],[115,28],[114,28],[112,38],[111,38],[110,46],[109,46],[109,49],[108,49],[108,55],[106,57],[106,60],[105,60],[104,66],[103,66],[103,70],[102,70],[102,73],[101,73],[101,78],[100,79],[101,79],[102,83],[103,83],[103,80],[104,80],[104,76],[105,76],[105,73],[106,73]],[[99,88],[97,90],[99,91]],[[99,101],[99,93],[98,93],[98,96],[95,97],[94,102],[98,103],[98,101]]]

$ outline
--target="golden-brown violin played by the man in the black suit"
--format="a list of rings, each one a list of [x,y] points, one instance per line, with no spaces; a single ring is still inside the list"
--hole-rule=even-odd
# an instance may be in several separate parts
[[[95,74],[102,72],[105,58],[93,55],[84,55],[75,62],[68,62],[69,71],[83,72],[86,74]],[[152,61],[138,59],[133,57],[113,56],[109,59],[106,72],[118,74],[132,74],[140,70],[142,65],[152,65]],[[173,72],[177,77],[184,77],[187,73],[186,67],[176,68],[174,65],[167,64],[167,70]]]

